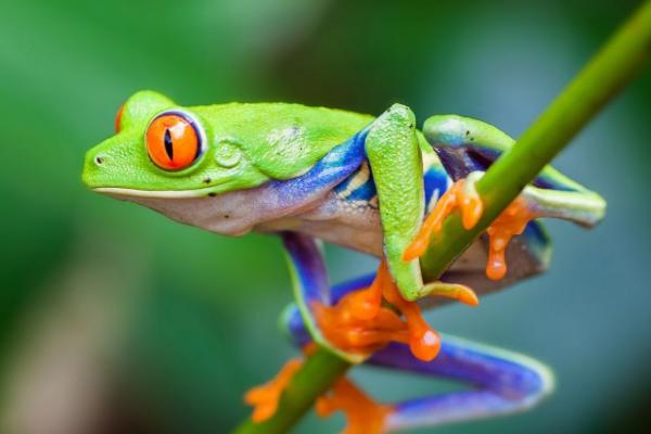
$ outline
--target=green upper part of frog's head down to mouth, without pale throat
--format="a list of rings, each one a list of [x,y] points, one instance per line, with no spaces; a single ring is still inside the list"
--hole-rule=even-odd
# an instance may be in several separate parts
[[[115,119],[115,136],[86,154],[84,183],[123,199],[199,197],[259,186],[268,177],[237,140],[215,133],[216,111],[187,108],[140,91]]]

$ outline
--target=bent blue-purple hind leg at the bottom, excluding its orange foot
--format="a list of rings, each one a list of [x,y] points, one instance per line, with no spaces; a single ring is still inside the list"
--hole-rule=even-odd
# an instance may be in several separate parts
[[[368,362],[457,380],[475,390],[399,403],[386,421],[390,431],[522,411],[553,388],[551,371],[534,359],[445,334],[442,337],[441,353],[431,362],[416,359],[401,344],[388,345]]]

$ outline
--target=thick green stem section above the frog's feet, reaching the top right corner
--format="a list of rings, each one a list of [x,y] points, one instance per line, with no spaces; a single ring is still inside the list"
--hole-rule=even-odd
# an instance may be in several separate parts
[[[446,219],[421,260],[425,280],[438,278],[570,140],[640,69],[651,51],[651,2],[646,2],[572,80],[518,143],[477,182],[484,214],[471,230]]]

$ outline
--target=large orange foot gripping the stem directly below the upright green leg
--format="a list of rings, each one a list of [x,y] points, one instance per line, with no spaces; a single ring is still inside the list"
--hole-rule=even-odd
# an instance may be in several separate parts
[[[383,299],[392,306],[383,306]],[[312,308],[326,339],[347,353],[369,355],[394,341],[409,344],[414,357],[430,361],[441,349],[438,333],[416,303],[403,298],[384,260],[369,288],[347,294],[335,306],[316,303]]]

